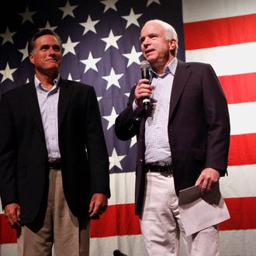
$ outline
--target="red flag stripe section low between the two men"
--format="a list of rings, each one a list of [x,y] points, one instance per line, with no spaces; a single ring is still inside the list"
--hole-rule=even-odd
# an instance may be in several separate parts
[[[102,228],[104,227],[104,228]],[[141,234],[134,204],[108,206],[99,220],[91,221],[91,237],[112,237]]]

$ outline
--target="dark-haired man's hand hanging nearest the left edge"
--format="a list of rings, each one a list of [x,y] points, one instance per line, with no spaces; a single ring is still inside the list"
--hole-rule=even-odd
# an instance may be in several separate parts
[[[18,203],[13,202],[5,206],[4,214],[5,214],[5,220],[7,221],[10,227],[14,229],[18,229],[20,227],[19,221],[20,221],[21,211]]]

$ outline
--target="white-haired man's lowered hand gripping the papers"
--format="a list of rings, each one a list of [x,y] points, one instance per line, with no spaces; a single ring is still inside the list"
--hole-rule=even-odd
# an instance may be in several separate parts
[[[219,171],[213,168],[205,168],[199,175],[195,185],[201,185],[201,194],[203,195],[205,192],[209,192],[219,179]]]

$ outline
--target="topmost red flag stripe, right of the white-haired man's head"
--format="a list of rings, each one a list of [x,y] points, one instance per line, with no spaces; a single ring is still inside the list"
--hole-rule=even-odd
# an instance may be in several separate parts
[[[254,42],[255,27],[256,14],[188,22],[184,24],[185,50]]]

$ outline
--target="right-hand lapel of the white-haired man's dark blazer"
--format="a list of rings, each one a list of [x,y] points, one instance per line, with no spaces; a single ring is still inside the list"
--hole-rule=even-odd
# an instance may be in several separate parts
[[[178,61],[178,66],[175,71],[175,78],[174,78],[172,89],[171,89],[169,120],[171,120],[171,116],[178,103],[178,99],[180,99],[182,92],[185,88],[185,85],[187,85],[187,81],[189,80],[191,71],[188,69],[188,67],[189,67],[189,64],[186,64],[185,62],[182,62],[182,61]]]

